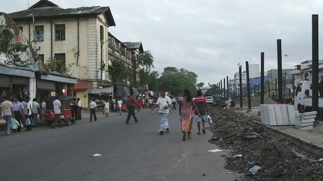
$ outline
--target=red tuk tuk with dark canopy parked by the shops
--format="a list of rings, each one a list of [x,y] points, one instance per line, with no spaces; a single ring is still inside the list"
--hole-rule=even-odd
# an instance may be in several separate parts
[[[55,120],[54,107],[52,102],[56,100],[55,96],[49,97],[46,101],[45,121],[50,126]],[[59,96],[64,115],[61,115],[61,121],[66,126],[75,123],[77,119],[77,99],[74,96]]]

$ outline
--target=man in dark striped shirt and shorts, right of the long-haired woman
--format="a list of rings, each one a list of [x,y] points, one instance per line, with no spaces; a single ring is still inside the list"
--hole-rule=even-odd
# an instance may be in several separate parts
[[[206,112],[205,109],[207,111],[207,115],[208,115],[208,107],[206,104],[206,99],[204,97],[202,97],[202,92],[201,91],[197,91],[197,97],[194,99],[194,103],[198,109],[198,112],[200,113],[200,117],[198,116],[198,113],[194,111],[194,117],[195,117],[195,122],[197,122],[197,129],[198,132],[197,134],[201,134],[200,132],[200,128],[201,128],[201,122],[202,122],[202,132],[206,133],[205,131],[205,121],[206,121]]]

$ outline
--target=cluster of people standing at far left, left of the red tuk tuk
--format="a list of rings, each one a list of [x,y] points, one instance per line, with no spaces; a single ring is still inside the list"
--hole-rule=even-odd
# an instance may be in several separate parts
[[[31,131],[33,127],[38,125],[38,115],[39,123],[44,124],[46,103],[42,99],[40,104],[36,99],[30,101],[30,98],[27,96],[25,100],[18,100],[18,97],[14,97],[13,101],[10,102],[6,96],[3,97],[3,102],[0,105],[0,118],[7,121],[6,126],[6,135],[10,135],[10,126],[12,119],[18,121],[19,125],[17,129],[14,129],[13,132],[21,132],[21,127],[23,122],[25,122],[26,130]]]

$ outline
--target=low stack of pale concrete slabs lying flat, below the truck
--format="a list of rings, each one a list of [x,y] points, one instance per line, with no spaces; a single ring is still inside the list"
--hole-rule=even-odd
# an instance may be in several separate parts
[[[295,128],[300,130],[313,129],[317,112],[295,113]]]

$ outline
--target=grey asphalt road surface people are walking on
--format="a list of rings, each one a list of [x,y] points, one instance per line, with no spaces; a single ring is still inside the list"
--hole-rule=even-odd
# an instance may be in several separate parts
[[[5,136],[0,132],[1,180],[234,180],[223,168],[228,150],[196,134],[182,141],[178,111],[170,110],[170,131],[159,135],[159,115],[144,109],[125,124],[127,113],[111,113],[98,121],[83,120],[63,128],[33,128]],[[219,149],[219,148],[218,148]],[[99,153],[99,157],[90,155]],[[206,175],[203,176],[203,173]]]

